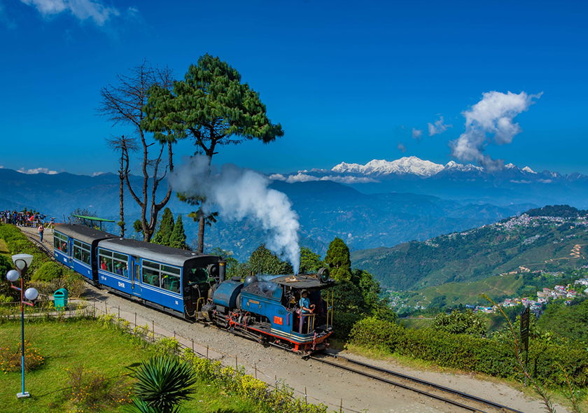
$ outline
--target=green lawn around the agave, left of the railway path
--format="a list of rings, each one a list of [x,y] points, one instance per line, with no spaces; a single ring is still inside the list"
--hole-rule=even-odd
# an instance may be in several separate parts
[[[79,366],[99,374],[104,379],[130,382],[129,367],[135,367],[153,355],[153,349],[137,346],[137,339],[109,328],[94,320],[31,321],[25,325],[25,338],[45,357],[38,370],[25,373],[27,399],[17,400],[21,391],[19,372],[0,374],[0,407],[2,412],[88,412],[70,400],[73,388],[71,372]],[[0,324],[0,342],[17,345],[20,342],[20,322]],[[232,395],[218,386],[200,381],[194,399],[182,405],[180,412],[246,413],[258,412],[253,400]],[[76,408],[79,406],[79,409]],[[101,405],[99,412],[121,412],[122,407]]]

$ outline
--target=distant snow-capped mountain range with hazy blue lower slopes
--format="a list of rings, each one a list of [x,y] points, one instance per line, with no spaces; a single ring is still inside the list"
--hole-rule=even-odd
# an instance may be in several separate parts
[[[366,165],[336,165],[290,174],[273,174],[271,179],[288,183],[335,181],[361,193],[418,193],[473,204],[570,204],[588,207],[588,176],[534,172],[529,167],[505,165],[487,171],[474,165],[450,161],[439,165],[414,156],[388,162],[372,160]]]

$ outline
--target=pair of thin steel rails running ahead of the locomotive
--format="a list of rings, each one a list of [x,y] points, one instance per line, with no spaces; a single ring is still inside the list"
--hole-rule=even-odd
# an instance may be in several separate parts
[[[483,405],[487,405],[489,407],[493,407],[494,409],[498,409],[498,410],[502,410],[502,411],[506,411],[507,410],[507,411],[514,412],[514,413],[524,413],[524,412],[521,412],[519,410],[512,409],[511,407],[506,407],[506,406],[500,405],[498,403],[492,402],[491,400],[485,400],[485,399],[482,399],[482,398],[478,398],[475,395],[470,395],[468,393],[463,393],[461,391],[456,391],[453,388],[440,386],[439,384],[431,383],[430,381],[425,381],[425,380],[417,379],[416,377],[410,377],[410,376],[407,376],[406,374],[402,374],[402,373],[398,373],[398,372],[393,372],[391,370],[386,370],[384,368],[377,367],[377,366],[374,366],[374,365],[369,365],[369,364],[366,364],[366,363],[362,363],[360,361],[353,360],[351,358],[346,358],[346,357],[343,357],[343,356],[337,356],[337,355],[330,354],[330,353],[325,353],[325,352],[323,352],[321,354],[323,354],[325,356],[332,357],[332,358],[341,358],[342,360],[346,360],[349,363],[360,365],[361,367],[365,367],[365,368],[368,368],[368,369],[371,369],[371,370],[375,370],[377,372],[383,372],[383,373],[386,373],[386,374],[390,374],[390,375],[395,376],[395,377],[398,377],[400,379],[405,379],[405,380],[413,381],[413,382],[418,383],[418,384],[421,384],[423,386],[428,386],[428,387],[433,388],[435,390],[443,391],[444,393],[449,393],[449,394],[452,394],[452,395],[457,395],[458,397],[461,397],[461,398],[465,398],[465,399],[468,399],[468,400],[479,402],[479,403],[481,403]],[[357,374],[361,374],[361,375],[363,375],[365,377],[370,377],[370,378],[375,379],[375,380],[378,380],[378,381],[384,381],[385,383],[392,384],[394,386],[398,386],[398,387],[401,387],[401,388],[405,388],[405,389],[407,389],[409,391],[414,391],[416,393],[419,393],[419,394],[422,394],[422,395],[426,395],[427,397],[434,398],[434,399],[440,400],[442,402],[447,402],[447,403],[449,403],[451,405],[455,405],[455,406],[461,407],[463,409],[470,410],[471,412],[484,412],[483,410],[477,409],[476,407],[472,407],[472,406],[468,406],[468,405],[463,405],[460,402],[456,402],[454,400],[443,398],[440,395],[435,395],[433,393],[429,393],[428,391],[420,390],[419,388],[414,388],[414,387],[411,387],[411,386],[407,386],[405,384],[401,384],[401,383],[398,383],[396,381],[392,381],[392,380],[384,379],[383,377],[375,376],[374,374],[370,374],[370,373],[367,373],[367,372],[362,372],[360,370],[356,370],[356,369],[353,369],[351,367],[340,365],[338,363],[333,363],[333,362],[328,361],[328,360],[325,360],[323,358],[317,358],[316,356],[309,356],[309,358],[311,358],[313,360],[316,360],[316,361],[320,361],[321,363],[326,363],[328,365],[339,367],[339,368],[342,368],[344,370],[355,372]]]

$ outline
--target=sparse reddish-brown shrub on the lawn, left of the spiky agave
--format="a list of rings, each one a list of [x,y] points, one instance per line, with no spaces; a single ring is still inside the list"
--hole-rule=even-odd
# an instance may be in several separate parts
[[[127,405],[131,401],[131,384],[123,377],[104,377],[102,374],[86,370],[83,365],[73,367],[68,372],[71,386],[70,400],[94,412],[102,412],[109,407]]]

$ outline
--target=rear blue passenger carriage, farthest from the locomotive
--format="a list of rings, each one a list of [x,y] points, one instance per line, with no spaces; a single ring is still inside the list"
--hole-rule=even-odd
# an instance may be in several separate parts
[[[59,225],[53,231],[53,254],[57,262],[82,274],[86,281],[98,286],[98,242],[111,238],[116,238],[116,235],[85,225]]]

